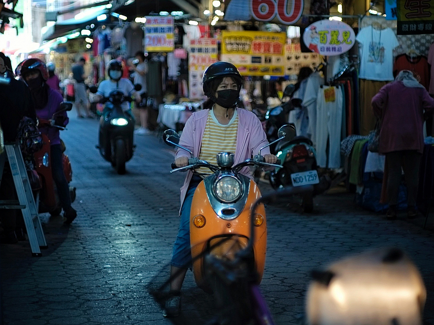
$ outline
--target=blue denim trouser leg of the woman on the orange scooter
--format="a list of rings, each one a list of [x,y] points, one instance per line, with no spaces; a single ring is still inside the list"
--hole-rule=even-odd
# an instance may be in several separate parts
[[[178,236],[173,245],[173,254],[170,265],[179,268],[191,268],[190,250],[190,210],[193,201],[194,191],[198,187],[202,178],[194,175],[188,186],[188,191],[181,208],[181,222],[178,229]]]

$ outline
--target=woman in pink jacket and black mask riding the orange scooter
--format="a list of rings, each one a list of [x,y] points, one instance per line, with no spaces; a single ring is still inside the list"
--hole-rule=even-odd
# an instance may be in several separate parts
[[[203,90],[208,101],[204,103],[202,111],[194,112],[187,120],[179,145],[192,152],[199,152],[199,159],[211,164],[216,164],[216,155],[222,151],[234,152],[235,161],[243,161],[251,158],[259,148],[268,145],[258,118],[252,112],[236,107],[241,86],[242,77],[233,64],[211,64],[203,76]],[[243,146],[238,147],[237,143]],[[264,152],[265,161],[274,164],[276,156],[270,154],[268,148],[264,149]],[[176,166],[187,166],[189,157],[189,152],[178,149]],[[174,278],[170,283],[170,297],[166,300],[163,311],[165,317],[176,317],[181,311],[180,290],[187,272],[186,265],[191,263],[191,202],[194,191],[203,177],[212,173],[202,169],[198,170],[199,173],[188,171],[181,188],[181,224],[173,246],[170,275]],[[251,177],[248,167],[243,168],[240,173]]]

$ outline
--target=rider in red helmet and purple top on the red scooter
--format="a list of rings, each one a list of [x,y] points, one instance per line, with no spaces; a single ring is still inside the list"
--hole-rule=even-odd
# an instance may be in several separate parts
[[[59,110],[63,98],[57,90],[47,85],[49,77],[47,66],[39,59],[26,59],[20,63],[19,76],[29,86],[36,108],[36,115],[41,120],[50,120]],[[55,125],[68,124],[67,112],[57,114]],[[40,127],[39,131],[48,136],[51,143],[51,171],[56,183],[57,193],[63,209],[64,223],[70,224],[77,217],[77,212],[71,206],[68,181],[63,173],[62,150],[60,145],[59,129],[55,127]]]

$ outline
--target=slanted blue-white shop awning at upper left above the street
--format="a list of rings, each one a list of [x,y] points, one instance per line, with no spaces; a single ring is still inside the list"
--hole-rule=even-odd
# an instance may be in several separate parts
[[[108,13],[108,9],[88,10],[89,13],[83,13],[76,18],[56,22],[53,26],[46,26],[42,31],[42,40],[55,39],[73,33],[75,30],[81,30],[86,26],[97,22],[97,17]]]

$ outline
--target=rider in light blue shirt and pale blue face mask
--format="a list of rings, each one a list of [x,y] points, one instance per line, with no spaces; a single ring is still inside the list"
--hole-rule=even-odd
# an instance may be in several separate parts
[[[103,80],[99,84],[96,93],[97,101],[100,101],[103,97],[108,98],[110,96],[110,93],[114,90],[120,90],[125,96],[134,95],[136,103],[141,102],[142,99],[140,97],[140,94],[134,89],[133,83],[126,78],[122,78],[123,69],[123,62],[120,62],[118,60],[111,60],[110,62],[108,62],[107,73],[110,79]],[[105,105],[104,111],[102,113],[103,115],[107,112],[107,109],[109,109],[109,106]],[[129,103],[127,101],[124,101],[122,103],[122,110],[128,111],[129,109]]]

